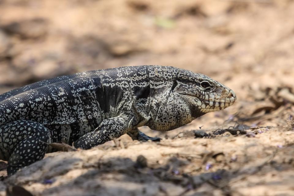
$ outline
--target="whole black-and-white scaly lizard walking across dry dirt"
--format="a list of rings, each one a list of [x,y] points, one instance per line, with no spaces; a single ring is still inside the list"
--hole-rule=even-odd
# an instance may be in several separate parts
[[[62,141],[89,149],[123,134],[151,138],[140,126],[168,131],[234,103],[213,79],[167,66],[130,66],[55,77],[0,95],[0,159],[15,173]],[[46,142],[46,143],[44,143]]]

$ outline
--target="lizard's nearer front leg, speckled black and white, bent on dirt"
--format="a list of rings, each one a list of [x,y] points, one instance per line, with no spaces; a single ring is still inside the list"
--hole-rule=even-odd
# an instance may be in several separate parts
[[[75,148],[90,149],[96,145],[104,144],[113,138],[119,138],[132,129],[135,124],[135,117],[129,114],[121,114],[117,117],[103,120],[100,125],[77,141]]]

